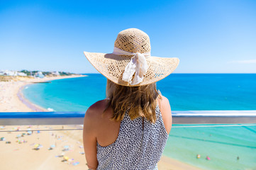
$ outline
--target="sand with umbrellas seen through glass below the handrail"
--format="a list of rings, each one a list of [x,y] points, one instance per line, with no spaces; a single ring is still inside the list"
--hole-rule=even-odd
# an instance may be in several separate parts
[[[82,130],[69,125],[0,126],[0,130],[1,170],[87,169]],[[198,170],[165,156],[158,169]]]

